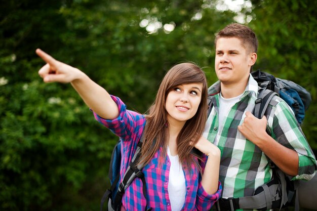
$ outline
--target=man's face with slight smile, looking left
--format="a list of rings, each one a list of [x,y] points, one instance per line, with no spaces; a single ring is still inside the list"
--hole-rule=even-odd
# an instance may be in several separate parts
[[[256,53],[250,53],[236,37],[221,37],[216,43],[215,71],[225,86],[246,86]]]

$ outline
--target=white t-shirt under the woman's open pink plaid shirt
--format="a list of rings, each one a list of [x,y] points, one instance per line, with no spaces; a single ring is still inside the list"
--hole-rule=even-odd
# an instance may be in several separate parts
[[[179,211],[185,203],[186,184],[182,165],[179,163],[178,155],[172,156],[170,148],[167,154],[171,161],[168,192],[171,200],[172,211]]]

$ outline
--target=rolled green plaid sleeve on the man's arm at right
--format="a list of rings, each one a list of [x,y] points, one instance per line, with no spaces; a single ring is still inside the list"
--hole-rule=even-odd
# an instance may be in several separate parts
[[[271,136],[280,144],[295,150],[299,156],[298,175],[292,180],[310,180],[316,173],[317,164],[312,150],[287,103],[279,98],[274,112],[268,116]]]

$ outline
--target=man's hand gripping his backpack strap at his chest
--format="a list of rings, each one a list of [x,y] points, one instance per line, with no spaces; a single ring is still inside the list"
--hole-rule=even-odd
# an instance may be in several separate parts
[[[266,133],[266,117],[263,116],[261,119],[256,118],[251,112],[246,112],[246,117],[237,128],[248,140],[253,142],[255,145],[261,143],[260,140],[267,136]]]

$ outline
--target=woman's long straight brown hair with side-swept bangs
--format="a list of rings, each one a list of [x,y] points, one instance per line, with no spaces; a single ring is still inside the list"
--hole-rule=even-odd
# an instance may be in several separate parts
[[[146,126],[143,132],[143,145],[141,149],[141,159],[139,163],[146,165],[149,163],[154,153],[163,146],[163,153],[160,161],[166,157],[169,129],[167,120],[167,110],[165,107],[168,93],[179,85],[187,83],[203,83],[202,99],[196,114],[188,119],[177,137],[177,154],[183,166],[190,166],[194,163],[199,165],[194,159],[191,150],[201,138],[207,121],[207,81],[204,71],[192,63],[181,63],[172,67],[163,78],[159,91],[152,106],[146,115]],[[153,141],[154,138],[156,141]],[[190,145],[190,142],[192,144]],[[161,162],[162,163],[162,162]]]

